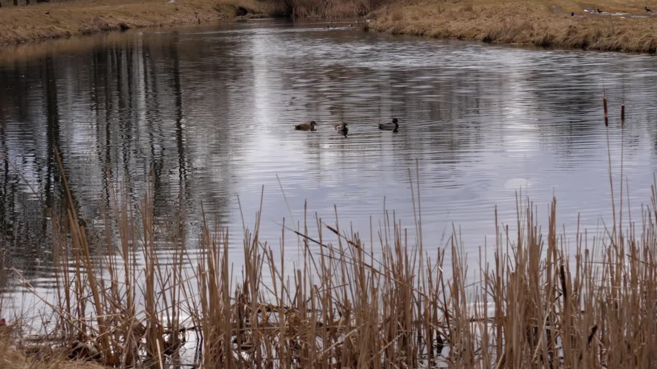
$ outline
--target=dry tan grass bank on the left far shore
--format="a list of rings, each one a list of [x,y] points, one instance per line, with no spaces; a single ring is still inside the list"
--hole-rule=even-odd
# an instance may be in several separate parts
[[[0,9],[0,44],[272,14],[260,0],[76,0]]]

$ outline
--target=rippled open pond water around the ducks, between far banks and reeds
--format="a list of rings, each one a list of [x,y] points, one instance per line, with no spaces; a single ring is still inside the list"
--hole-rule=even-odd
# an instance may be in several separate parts
[[[295,221],[307,199],[310,213],[330,221],[336,205],[342,227],[353,222],[368,243],[372,215],[375,245],[384,206],[413,228],[408,170],[416,159],[425,247],[444,246],[454,225],[476,255],[494,234],[495,205],[514,223],[521,187],[544,225],[554,193],[566,230],[581,211],[582,227],[599,231],[611,211],[603,87],[614,170],[624,99],[629,198],[635,209],[649,200],[657,167],[654,56],[323,26],[242,22],[3,50],[0,154],[23,176],[3,164],[0,231],[9,265],[47,280],[44,207],[64,202],[56,148],[91,227],[102,228],[110,185],[127,181],[137,204],[150,178],[157,217],[184,218],[193,247],[202,205],[234,231],[235,259],[242,252],[237,195],[250,225],[264,186],[263,240],[277,245],[275,221],[291,223],[276,175]],[[399,133],[377,129],[392,118]],[[317,131],[293,129],[310,119]],[[350,124],[346,138],[330,125],[342,120]],[[286,247],[295,259],[296,240]]]

